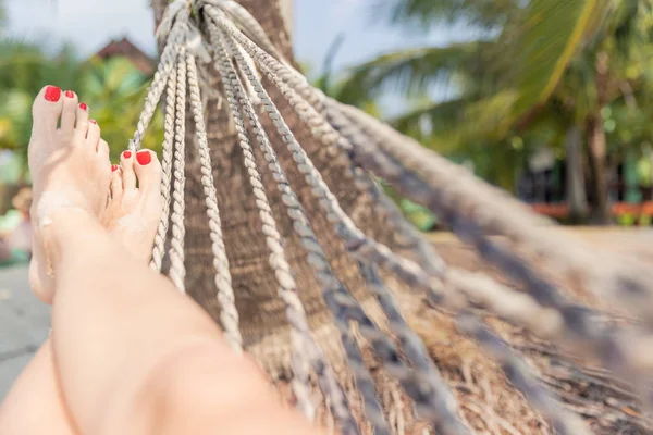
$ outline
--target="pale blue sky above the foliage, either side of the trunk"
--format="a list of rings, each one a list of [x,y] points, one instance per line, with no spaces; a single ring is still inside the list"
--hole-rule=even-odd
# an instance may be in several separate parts
[[[47,41],[56,47],[74,44],[91,54],[112,38],[128,36],[138,47],[155,53],[153,23],[148,0],[5,0],[10,34],[21,39]],[[410,37],[370,20],[372,0],[295,0],[296,55],[319,71],[333,40],[344,34],[345,44],[335,67],[355,64],[383,51],[424,44],[444,44],[449,32]]]

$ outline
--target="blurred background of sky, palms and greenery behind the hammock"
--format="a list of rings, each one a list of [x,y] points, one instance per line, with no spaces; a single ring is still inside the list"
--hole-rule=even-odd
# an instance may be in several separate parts
[[[297,59],[328,95],[562,223],[651,225],[650,0],[287,5]],[[29,186],[35,94],[75,89],[115,158],[157,64],[152,34],[147,0],[0,0],[0,238],[20,225],[12,200]],[[161,125],[145,146],[160,147]],[[420,229],[440,228],[386,189]]]

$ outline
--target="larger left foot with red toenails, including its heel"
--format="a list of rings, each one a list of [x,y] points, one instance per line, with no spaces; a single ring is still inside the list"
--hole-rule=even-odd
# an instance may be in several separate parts
[[[79,104],[72,91],[45,87],[34,102],[33,116],[34,257],[29,281],[38,298],[51,303],[54,275],[48,226],[70,210],[94,216],[104,210],[111,179],[109,146],[101,140],[97,123],[88,119],[86,104]]]

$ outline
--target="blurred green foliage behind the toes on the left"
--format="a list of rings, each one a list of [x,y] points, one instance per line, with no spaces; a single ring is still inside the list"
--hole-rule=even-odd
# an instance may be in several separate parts
[[[134,133],[149,78],[124,58],[82,61],[67,46],[50,54],[38,44],[2,40],[0,149],[25,156],[32,130],[32,100],[42,86],[56,84],[74,89],[88,104],[115,159]],[[151,128],[144,146],[157,149],[162,139],[160,115]]]

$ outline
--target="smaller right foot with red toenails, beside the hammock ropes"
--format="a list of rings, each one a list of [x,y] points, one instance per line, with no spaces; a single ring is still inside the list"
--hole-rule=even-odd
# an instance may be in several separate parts
[[[111,200],[102,224],[136,258],[148,261],[161,219],[161,164],[153,151],[124,151],[121,165],[111,170]]]

